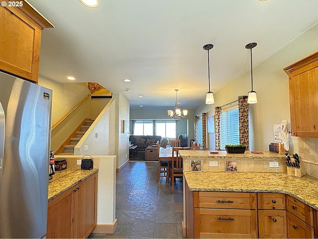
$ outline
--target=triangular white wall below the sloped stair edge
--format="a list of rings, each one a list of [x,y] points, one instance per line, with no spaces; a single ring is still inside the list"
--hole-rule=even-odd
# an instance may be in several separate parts
[[[116,155],[115,111],[115,100],[112,99],[79,140],[74,148],[74,155]],[[87,151],[84,151],[85,145],[88,145]]]

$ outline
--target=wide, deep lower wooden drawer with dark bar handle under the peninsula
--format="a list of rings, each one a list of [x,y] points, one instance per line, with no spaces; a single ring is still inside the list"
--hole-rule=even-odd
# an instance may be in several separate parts
[[[195,238],[257,238],[255,210],[194,209]]]

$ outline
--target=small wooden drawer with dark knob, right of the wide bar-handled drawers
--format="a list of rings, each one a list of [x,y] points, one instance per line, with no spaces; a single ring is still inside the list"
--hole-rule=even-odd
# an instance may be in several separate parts
[[[257,193],[258,209],[286,209],[285,194]]]

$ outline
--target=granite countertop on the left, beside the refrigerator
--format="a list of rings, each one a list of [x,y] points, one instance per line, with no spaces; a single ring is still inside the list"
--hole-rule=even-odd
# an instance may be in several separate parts
[[[67,168],[62,171],[55,171],[53,178],[49,180],[48,201],[66,192],[80,181],[96,173],[98,168],[91,170],[80,170],[80,168]]]

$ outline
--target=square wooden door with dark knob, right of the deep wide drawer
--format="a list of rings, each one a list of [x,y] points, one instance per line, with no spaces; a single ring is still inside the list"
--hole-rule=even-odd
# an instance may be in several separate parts
[[[259,238],[287,238],[286,210],[258,210]]]

